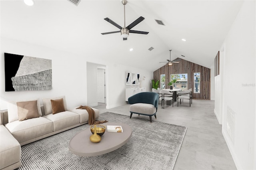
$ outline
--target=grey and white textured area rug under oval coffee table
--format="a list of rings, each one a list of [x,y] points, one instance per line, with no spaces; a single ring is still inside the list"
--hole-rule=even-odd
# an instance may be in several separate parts
[[[68,150],[70,139],[90,125],[82,125],[21,146],[19,170],[172,170],[186,127],[116,113],[102,113],[99,120],[132,127],[130,140],[100,156],[81,157]]]

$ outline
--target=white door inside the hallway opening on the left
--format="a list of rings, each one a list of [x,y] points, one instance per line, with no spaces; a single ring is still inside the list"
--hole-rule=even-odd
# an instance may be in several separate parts
[[[98,103],[105,103],[105,69],[97,69],[97,99]]]

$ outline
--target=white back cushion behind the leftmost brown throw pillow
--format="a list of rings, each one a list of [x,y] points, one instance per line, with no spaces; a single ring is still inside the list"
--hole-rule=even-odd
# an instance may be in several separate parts
[[[37,100],[37,108],[38,108],[38,114],[39,116],[42,116],[42,111],[40,108],[40,101],[39,99],[28,99],[28,100],[18,100],[18,101],[8,101],[7,102],[7,108],[8,108],[8,122],[11,123],[13,121],[18,121],[18,107],[17,102],[22,101],[35,101]]]

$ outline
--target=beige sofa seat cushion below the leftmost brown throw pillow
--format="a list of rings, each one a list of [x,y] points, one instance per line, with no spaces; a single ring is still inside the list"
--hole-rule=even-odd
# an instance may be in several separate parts
[[[7,123],[5,127],[12,133],[18,142],[42,136],[53,131],[52,121],[38,117],[25,121],[14,121]]]

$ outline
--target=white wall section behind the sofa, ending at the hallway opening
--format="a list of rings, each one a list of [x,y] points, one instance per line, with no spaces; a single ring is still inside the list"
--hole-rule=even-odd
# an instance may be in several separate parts
[[[66,96],[68,109],[87,103],[86,66],[77,62],[78,56],[30,43],[1,38],[0,45],[0,108],[7,109],[6,101],[42,97]],[[27,55],[52,60],[52,90],[6,92],[4,78],[4,53]],[[82,77],[82,78],[81,78]]]

